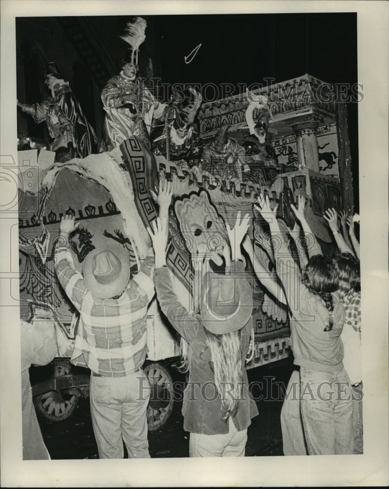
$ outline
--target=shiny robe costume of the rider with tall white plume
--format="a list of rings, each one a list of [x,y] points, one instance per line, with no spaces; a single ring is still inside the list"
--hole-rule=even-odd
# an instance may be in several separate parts
[[[124,95],[134,95],[136,102],[123,104]],[[143,80],[130,80],[122,71],[108,81],[101,97],[106,112],[103,131],[107,150],[111,151],[131,135],[149,145],[155,99]]]

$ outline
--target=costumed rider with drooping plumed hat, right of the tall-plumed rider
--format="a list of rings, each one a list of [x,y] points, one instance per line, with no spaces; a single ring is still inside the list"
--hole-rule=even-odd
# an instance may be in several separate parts
[[[203,97],[194,88],[173,92],[156,128],[151,134],[154,155],[162,155],[178,166],[198,167],[204,143],[200,137],[196,114]]]

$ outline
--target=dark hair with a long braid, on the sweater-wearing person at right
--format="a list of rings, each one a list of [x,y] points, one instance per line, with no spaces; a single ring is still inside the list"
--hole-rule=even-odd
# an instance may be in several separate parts
[[[325,302],[329,317],[328,326],[324,331],[331,331],[334,310],[332,292],[339,289],[339,276],[331,260],[323,255],[312,256],[304,269],[303,283],[311,293],[318,295]]]

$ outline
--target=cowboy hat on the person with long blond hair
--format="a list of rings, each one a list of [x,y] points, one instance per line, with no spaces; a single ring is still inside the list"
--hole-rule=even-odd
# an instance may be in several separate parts
[[[201,319],[214,334],[243,328],[252,314],[252,289],[243,277],[207,272],[202,290]]]

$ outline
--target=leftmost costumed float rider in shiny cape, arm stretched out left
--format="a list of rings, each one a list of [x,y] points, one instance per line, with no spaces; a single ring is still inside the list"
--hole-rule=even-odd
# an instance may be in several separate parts
[[[54,139],[50,149],[56,153],[55,160],[63,163],[97,153],[96,134],[56,63],[47,65],[44,83],[51,91],[48,99],[32,105],[18,100],[17,105],[30,114],[37,124],[46,122],[49,134]]]

